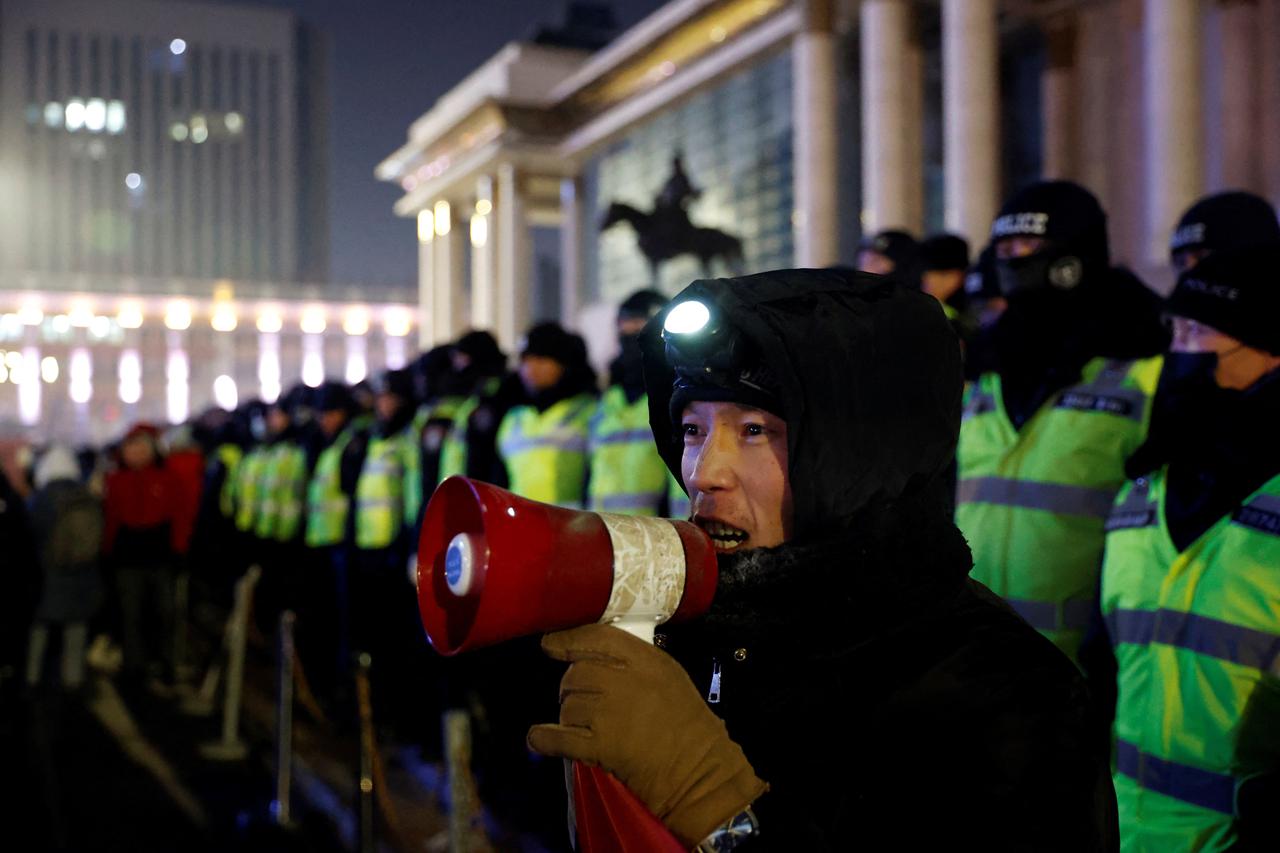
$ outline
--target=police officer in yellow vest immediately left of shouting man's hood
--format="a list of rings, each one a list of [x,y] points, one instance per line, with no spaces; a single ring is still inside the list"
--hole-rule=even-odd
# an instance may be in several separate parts
[[[667,304],[658,291],[636,291],[618,307],[620,352],[609,387],[590,424],[588,506],[598,512],[663,515],[671,473],[649,429],[640,332]]]

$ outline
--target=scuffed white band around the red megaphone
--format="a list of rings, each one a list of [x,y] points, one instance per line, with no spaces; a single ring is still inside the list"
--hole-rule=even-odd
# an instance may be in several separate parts
[[[666,519],[600,512],[613,544],[613,590],[600,616],[645,642],[685,594],[685,546]]]

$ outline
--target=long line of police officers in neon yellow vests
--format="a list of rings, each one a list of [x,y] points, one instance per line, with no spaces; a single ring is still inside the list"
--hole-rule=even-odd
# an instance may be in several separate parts
[[[1221,193],[1187,211],[1170,251],[1180,277],[1162,302],[1112,266],[1097,200],[1044,182],[1006,202],[968,275],[950,237],[877,234],[859,264],[923,287],[956,324],[970,374],[956,523],[973,576],[1103,698],[1124,849],[1277,849],[1280,224],[1266,201]],[[424,711],[447,699],[421,675],[410,574],[445,476],[687,515],[640,368],[640,329],[664,301],[641,291],[621,306],[603,396],[582,339],[543,323],[516,373],[472,332],[371,387],[296,388],[232,421],[218,507],[265,569],[264,615],[300,611],[323,695],[343,695],[351,647],[370,649],[379,707],[434,739]]]

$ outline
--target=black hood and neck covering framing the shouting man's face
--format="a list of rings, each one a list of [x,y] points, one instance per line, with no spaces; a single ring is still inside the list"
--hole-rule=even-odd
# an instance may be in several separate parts
[[[708,307],[713,339],[664,343],[689,302]],[[937,300],[841,270],[699,280],[643,343],[649,423],[677,479],[681,401],[756,406],[787,424],[792,537],[721,555],[709,630],[803,643],[835,608],[854,633],[874,633],[964,584],[972,557],[951,520],[950,476],[960,343]]]

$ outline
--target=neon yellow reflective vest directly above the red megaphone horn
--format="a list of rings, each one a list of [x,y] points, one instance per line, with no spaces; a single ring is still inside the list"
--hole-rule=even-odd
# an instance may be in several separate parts
[[[586,441],[595,398],[577,394],[547,411],[516,406],[498,428],[498,452],[511,491],[521,497],[582,508]]]

